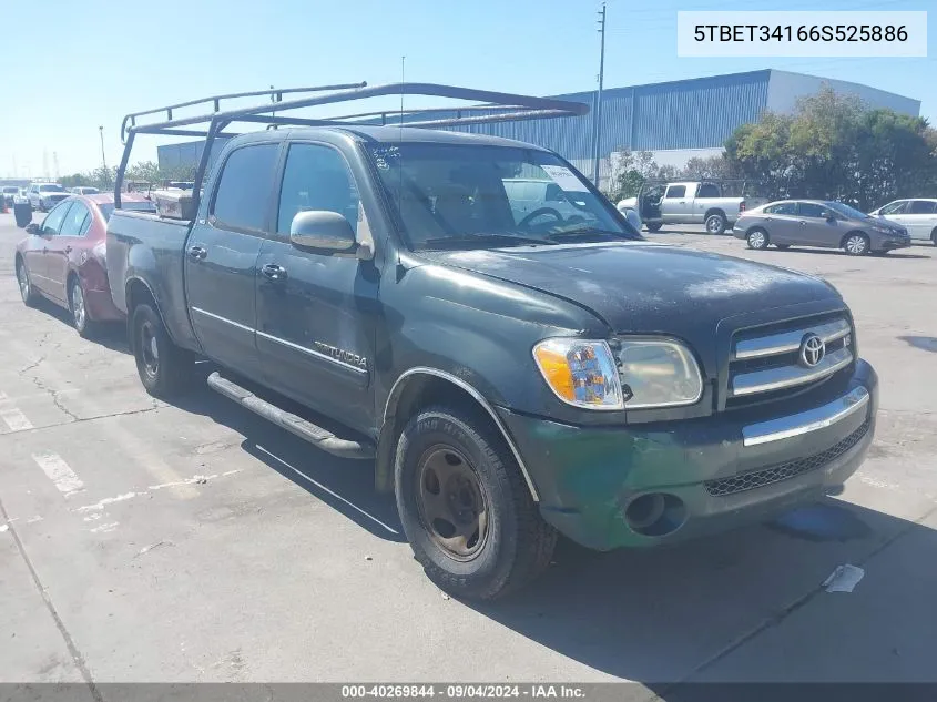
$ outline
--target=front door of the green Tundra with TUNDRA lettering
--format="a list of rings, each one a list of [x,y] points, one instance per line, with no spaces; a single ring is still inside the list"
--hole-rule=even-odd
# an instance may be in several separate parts
[[[289,242],[298,212],[337,212],[357,228],[359,208],[354,177],[337,150],[289,145],[276,234],[257,260],[257,349],[269,386],[365,431],[374,414],[377,271],[354,253],[317,253]]]

